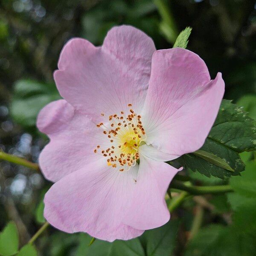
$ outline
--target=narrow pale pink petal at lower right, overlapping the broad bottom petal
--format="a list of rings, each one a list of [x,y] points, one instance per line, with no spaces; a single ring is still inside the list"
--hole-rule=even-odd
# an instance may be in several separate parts
[[[170,212],[164,198],[169,183],[178,171],[167,163],[140,155],[136,190],[123,222],[140,230],[166,224],[170,219]]]

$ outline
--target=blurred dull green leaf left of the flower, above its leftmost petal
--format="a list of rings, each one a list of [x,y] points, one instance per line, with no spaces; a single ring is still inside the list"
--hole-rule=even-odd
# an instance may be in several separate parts
[[[19,80],[14,86],[11,115],[23,127],[34,127],[39,111],[56,99],[60,99],[60,96],[55,84]]]

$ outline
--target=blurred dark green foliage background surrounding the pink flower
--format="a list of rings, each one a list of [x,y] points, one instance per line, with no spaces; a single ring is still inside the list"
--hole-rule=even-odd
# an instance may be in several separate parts
[[[253,0],[1,0],[1,149],[32,161],[38,159],[46,139],[39,136],[35,119],[44,105],[60,97],[52,73],[61,48],[72,37],[100,45],[108,29],[119,24],[142,29],[153,38],[157,49],[171,48],[179,32],[192,27],[188,49],[205,60],[212,78],[222,72],[224,97],[233,99],[256,119]],[[241,176],[230,178],[235,192],[199,198],[205,203],[203,227],[194,237],[188,239],[198,201],[187,200],[172,214],[169,224],[127,242],[96,240],[87,247],[90,236],[49,228],[36,241],[38,255],[255,255],[255,152],[239,157],[240,151],[227,150],[228,157],[236,154],[234,161],[241,157],[245,170]],[[211,170],[204,165],[200,168],[204,174]],[[199,185],[229,182],[227,177],[222,180],[189,170],[187,175]],[[32,170],[0,163],[0,255],[18,250],[18,255],[36,255],[35,247],[23,245],[44,222],[42,197],[49,186]],[[4,229],[9,219],[14,219],[17,227],[11,222]]]

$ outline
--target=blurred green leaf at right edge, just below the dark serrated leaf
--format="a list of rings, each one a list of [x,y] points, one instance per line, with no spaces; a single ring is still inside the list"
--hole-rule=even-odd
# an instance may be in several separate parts
[[[241,177],[232,177],[230,185],[241,195],[256,197],[256,161],[248,162]]]

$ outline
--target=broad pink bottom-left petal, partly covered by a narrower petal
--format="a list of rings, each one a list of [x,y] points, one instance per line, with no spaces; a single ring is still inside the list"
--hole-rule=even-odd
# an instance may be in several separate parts
[[[119,172],[98,161],[56,182],[45,195],[44,216],[59,230],[86,232],[113,241],[140,236],[143,230],[122,224],[131,204],[138,166]]]

